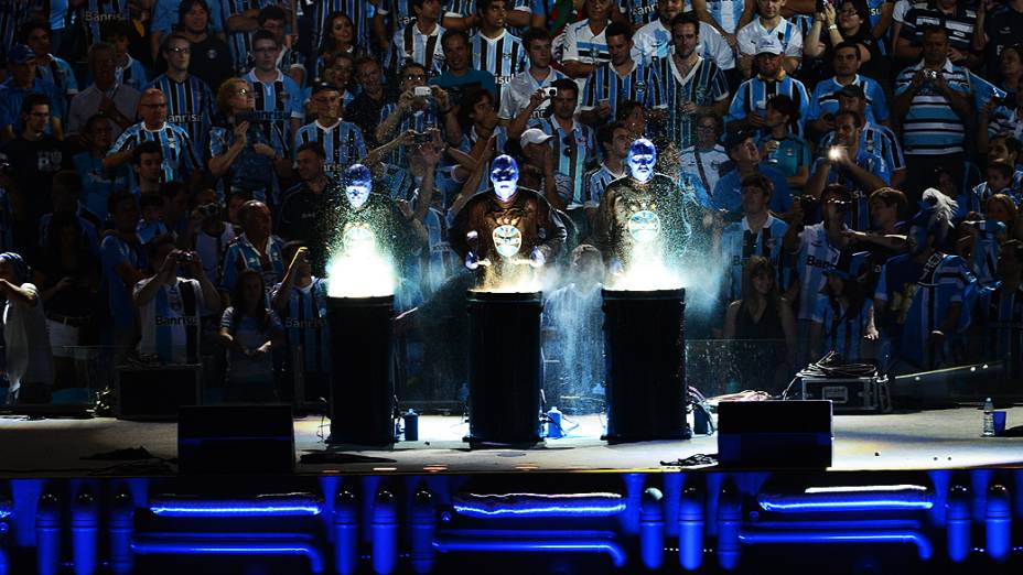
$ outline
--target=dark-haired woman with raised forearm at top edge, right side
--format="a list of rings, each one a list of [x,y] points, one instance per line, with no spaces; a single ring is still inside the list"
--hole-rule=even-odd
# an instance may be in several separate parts
[[[814,14],[814,25],[804,41],[804,55],[810,62],[820,63],[816,66],[820,77],[827,77],[831,72],[838,75],[839,66],[848,66],[849,61],[854,61],[859,72],[874,80],[887,82],[887,58],[874,36],[871,8],[866,0],[842,2],[838,13],[831,2],[825,2],[823,9],[823,12],[817,11]],[[842,56],[840,63],[838,50],[842,45],[852,48],[854,54]],[[804,66],[807,64],[804,62]],[[879,110],[882,109],[887,111],[884,106],[879,106]]]

